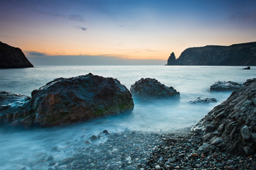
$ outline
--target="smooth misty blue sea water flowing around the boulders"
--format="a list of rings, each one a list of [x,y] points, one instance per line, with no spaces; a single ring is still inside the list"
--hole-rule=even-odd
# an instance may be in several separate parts
[[[63,159],[74,154],[73,147],[81,136],[89,139],[102,130],[171,131],[195,125],[208,111],[230,96],[231,91],[209,92],[215,81],[243,83],[255,77],[256,67],[210,66],[63,66],[34,67],[26,69],[0,69],[0,91],[31,96],[33,89],[58,77],[76,77],[82,74],[113,77],[130,88],[141,78],[155,78],[166,86],[173,86],[180,98],[138,101],[134,99],[132,113],[112,115],[86,123],[76,123],[55,128],[18,130],[0,128],[0,169],[48,169],[38,164],[45,155]],[[199,96],[216,98],[217,103],[191,104]],[[101,141],[104,142],[104,141]],[[57,152],[58,151],[58,152]]]

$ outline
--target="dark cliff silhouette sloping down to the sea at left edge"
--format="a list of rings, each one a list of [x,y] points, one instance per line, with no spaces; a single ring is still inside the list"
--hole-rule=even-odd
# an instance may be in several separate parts
[[[21,49],[0,41],[0,69],[33,67]]]

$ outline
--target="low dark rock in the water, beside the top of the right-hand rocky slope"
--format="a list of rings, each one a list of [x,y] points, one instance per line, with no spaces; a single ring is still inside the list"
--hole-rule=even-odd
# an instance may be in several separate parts
[[[235,91],[241,87],[242,84],[234,81],[217,81],[210,86],[209,91]]]

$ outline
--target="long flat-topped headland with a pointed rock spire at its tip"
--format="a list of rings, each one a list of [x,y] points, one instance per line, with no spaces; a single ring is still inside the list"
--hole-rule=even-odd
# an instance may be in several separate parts
[[[230,46],[207,45],[190,47],[176,59],[171,53],[167,65],[228,65],[255,66],[256,42],[247,42]]]

